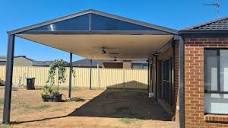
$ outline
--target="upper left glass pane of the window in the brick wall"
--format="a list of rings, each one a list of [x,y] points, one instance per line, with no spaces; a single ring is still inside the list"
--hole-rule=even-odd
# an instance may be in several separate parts
[[[205,90],[217,91],[217,50],[205,52]]]

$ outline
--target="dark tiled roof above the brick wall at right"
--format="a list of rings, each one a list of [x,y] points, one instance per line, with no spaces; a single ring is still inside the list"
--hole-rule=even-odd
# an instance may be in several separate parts
[[[193,33],[227,33],[228,32],[228,17],[220,18],[214,21],[189,27],[183,30],[180,30],[180,34],[193,34]]]

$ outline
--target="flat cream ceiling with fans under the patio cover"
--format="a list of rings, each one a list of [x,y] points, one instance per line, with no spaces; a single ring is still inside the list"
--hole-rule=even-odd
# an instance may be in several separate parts
[[[148,58],[171,35],[21,35],[24,38],[92,59]]]

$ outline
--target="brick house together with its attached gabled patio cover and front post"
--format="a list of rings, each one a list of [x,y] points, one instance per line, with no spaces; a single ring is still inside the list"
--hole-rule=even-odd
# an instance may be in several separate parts
[[[178,32],[86,10],[10,31],[5,124],[10,121],[15,36],[69,52],[70,67],[72,53],[93,60],[147,60],[148,96],[179,127],[228,127],[228,18]]]

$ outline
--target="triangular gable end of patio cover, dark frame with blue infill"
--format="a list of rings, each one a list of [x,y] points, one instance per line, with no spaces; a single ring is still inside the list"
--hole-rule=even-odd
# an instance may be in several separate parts
[[[24,27],[11,34],[28,33],[99,33],[103,32],[142,32],[148,34],[177,34],[176,30],[136,21],[120,16],[103,13],[96,10],[87,10],[73,15],[46,21],[40,24]]]

